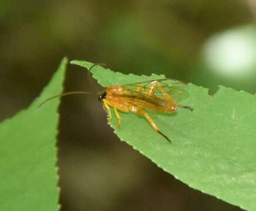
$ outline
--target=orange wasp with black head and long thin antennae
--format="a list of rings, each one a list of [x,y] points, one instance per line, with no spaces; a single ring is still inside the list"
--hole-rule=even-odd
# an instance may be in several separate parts
[[[91,66],[89,71],[96,65],[99,64]],[[168,83],[168,81],[170,81],[170,79],[156,79],[133,84],[113,85],[107,87],[104,91],[100,91],[98,94],[99,100],[102,101],[103,107],[109,115],[108,121],[112,119],[110,107],[114,109],[119,128],[121,125],[121,117],[118,111],[135,113],[146,118],[156,132],[166,138],[167,141],[171,142],[170,139],[159,130],[156,123],[147,112],[175,113],[177,108],[187,108],[190,111],[193,111],[193,108],[178,104],[178,102],[174,100],[176,96],[186,94],[184,84],[180,81],[171,80],[171,83]],[[92,93],[86,91],[70,91],[48,98],[43,101],[39,107],[52,98],[66,96],[68,94]]]

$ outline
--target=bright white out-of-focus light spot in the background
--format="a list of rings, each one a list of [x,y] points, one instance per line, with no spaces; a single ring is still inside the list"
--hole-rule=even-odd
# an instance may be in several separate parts
[[[203,47],[208,69],[231,77],[247,77],[256,72],[256,30],[250,26],[214,35]]]

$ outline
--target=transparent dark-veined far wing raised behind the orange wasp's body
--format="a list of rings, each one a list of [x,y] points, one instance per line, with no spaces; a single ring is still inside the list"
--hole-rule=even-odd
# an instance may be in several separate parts
[[[171,79],[156,79],[148,80],[139,83],[125,84],[122,85],[124,89],[130,89],[133,91],[140,92],[141,94],[147,95],[148,91],[151,89],[152,84],[157,82],[157,87],[154,90],[154,96],[164,98],[163,91],[168,93],[174,100],[182,101],[188,97],[187,84],[181,81],[171,80]],[[160,89],[161,87],[161,89]]]

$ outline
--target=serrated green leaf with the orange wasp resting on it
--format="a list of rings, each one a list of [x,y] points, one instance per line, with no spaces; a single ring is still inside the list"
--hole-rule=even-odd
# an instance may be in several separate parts
[[[145,80],[100,66],[91,72],[104,87]],[[192,106],[193,112],[179,109],[176,114],[150,114],[172,144],[132,113],[120,113],[121,129],[115,118],[110,125],[121,140],[191,188],[256,210],[256,97],[222,86],[209,96],[207,89],[193,84],[188,84],[188,94],[182,104]]]

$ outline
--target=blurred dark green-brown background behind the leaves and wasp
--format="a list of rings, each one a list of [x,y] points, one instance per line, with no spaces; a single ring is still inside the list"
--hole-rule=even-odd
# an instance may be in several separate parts
[[[63,56],[166,74],[210,94],[219,84],[255,93],[255,14],[254,0],[2,0],[0,120],[29,106]],[[69,66],[65,91],[94,91],[89,80]],[[241,210],[188,188],[120,142],[96,97],[63,98],[59,130],[62,211]]]

